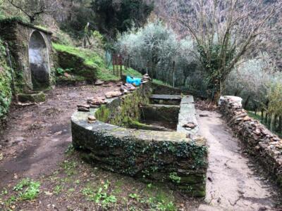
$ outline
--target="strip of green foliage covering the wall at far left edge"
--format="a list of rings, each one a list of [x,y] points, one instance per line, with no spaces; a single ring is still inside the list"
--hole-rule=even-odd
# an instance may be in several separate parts
[[[6,62],[5,47],[0,39],[0,128],[6,119],[12,98],[10,71]]]

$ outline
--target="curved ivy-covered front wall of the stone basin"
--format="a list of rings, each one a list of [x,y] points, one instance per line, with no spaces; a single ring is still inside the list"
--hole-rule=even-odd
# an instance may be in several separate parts
[[[164,182],[188,196],[205,196],[207,147],[203,137],[190,139],[185,132],[128,129],[102,121],[87,121],[95,113],[115,118],[117,113],[109,112],[118,112],[118,107],[130,111],[133,107],[122,106],[123,103],[134,102],[136,94],[147,96],[146,90],[140,87],[126,96],[107,99],[109,103],[106,106],[91,108],[90,113],[74,113],[71,117],[73,146],[82,150],[86,160],[105,170],[145,181]],[[140,102],[141,98],[136,101],[137,104]],[[104,110],[103,113],[101,110]],[[125,110],[123,113],[126,113]],[[111,122],[111,119],[107,121]],[[124,124],[122,120],[120,123]]]

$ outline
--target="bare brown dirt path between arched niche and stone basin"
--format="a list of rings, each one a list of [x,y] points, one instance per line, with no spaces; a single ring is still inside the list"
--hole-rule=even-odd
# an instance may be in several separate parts
[[[71,143],[71,115],[87,97],[104,96],[111,87],[63,87],[47,92],[39,106],[12,106],[0,134],[0,189],[11,180],[48,174]]]

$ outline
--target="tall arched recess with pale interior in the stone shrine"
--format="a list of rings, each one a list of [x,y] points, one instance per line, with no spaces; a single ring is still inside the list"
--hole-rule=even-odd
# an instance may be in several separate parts
[[[39,31],[32,32],[30,36],[28,55],[33,89],[49,87],[49,53],[44,37]]]

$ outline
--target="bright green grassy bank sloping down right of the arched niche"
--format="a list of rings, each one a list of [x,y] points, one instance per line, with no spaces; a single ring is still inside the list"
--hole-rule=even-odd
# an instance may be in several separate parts
[[[119,77],[113,75],[111,70],[107,70],[104,59],[99,56],[98,53],[91,51],[90,49],[81,49],[74,46],[66,46],[56,43],[53,43],[53,47],[56,51],[63,51],[78,56],[84,60],[85,65],[97,68],[97,79],[101,79],[103,81],[117,81],[120,79]]]

